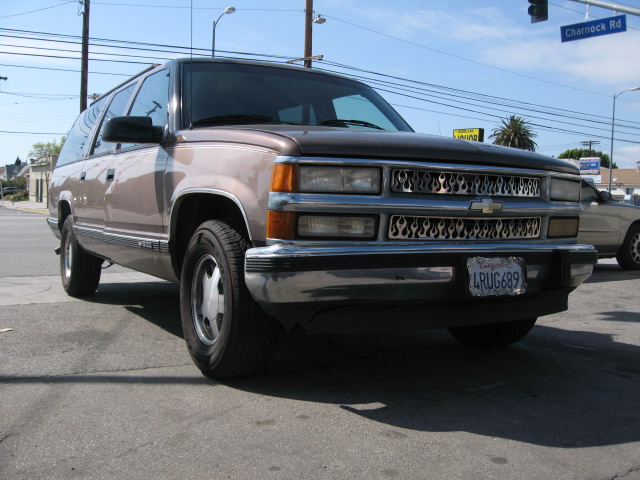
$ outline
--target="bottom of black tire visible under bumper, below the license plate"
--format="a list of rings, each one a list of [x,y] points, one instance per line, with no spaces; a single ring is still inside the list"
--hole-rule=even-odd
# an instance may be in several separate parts
[[[488,325],[454,327],[448,330],[456,340],[468,347],[498,348],[522,340],[533,328],[536,320],[537,318],[525,318]]]

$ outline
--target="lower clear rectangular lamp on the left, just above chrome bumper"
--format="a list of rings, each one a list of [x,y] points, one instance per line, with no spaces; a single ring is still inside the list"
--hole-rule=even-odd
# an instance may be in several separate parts
[[[301,215],[298,218],[299,237],[372,239],[375,235],[373,217]]]

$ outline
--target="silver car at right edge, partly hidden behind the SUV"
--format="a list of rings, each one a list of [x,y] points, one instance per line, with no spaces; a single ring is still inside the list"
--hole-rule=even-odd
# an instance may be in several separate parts
[[[640,270],[640,208],[614,202],[584,180],[582,208],[580,243],[596,247],[599,258],[615,257],[625,270]]]

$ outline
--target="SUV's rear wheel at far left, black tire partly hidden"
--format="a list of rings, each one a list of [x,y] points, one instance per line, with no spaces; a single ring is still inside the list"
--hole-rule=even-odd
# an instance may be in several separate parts
[[[68,216],[62,224],[60,241],[60,276],[62,286],[72,297],[93,295],[100,283],[103,260],[87,253],[73,233],[73,219]]]

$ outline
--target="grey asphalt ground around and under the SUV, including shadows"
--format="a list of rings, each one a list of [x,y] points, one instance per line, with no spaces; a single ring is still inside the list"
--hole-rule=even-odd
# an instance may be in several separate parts
[[[107,270],[71,299],[56,244],[0,208],[2,479],[640,479],[640,273],[613,261],[507,349],[296,334],[217,383],[175,285]]]

